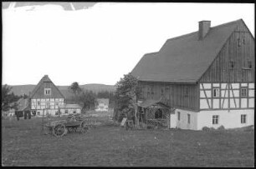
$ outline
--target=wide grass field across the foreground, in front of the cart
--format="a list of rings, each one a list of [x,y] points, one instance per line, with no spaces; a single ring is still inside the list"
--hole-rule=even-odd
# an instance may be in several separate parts
[[[254,131],[125,131],[101,118],[86,134],[57,138],[41,118],[2,120],[3,166],[253,167]]]

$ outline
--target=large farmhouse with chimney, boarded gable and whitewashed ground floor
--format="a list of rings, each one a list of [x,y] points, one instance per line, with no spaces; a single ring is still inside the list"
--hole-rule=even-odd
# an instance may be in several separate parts
[[[216,27],[201,21],[197,32],[143,56],[131,74],[142,104],[161,99],[173,108],[169,127],[246,127],[254,125],[254,62],[254,37],[242,19]]]

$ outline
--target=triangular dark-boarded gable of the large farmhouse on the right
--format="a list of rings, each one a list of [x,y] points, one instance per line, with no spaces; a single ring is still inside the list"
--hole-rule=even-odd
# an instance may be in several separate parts
[[[248,27],[239,22],[199,82],[254,82],[254,45]]]

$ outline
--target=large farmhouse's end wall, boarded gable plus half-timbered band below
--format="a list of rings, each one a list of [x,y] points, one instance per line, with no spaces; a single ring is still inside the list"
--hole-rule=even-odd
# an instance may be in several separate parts
[[[254,62],[254,38],[244,24],[238,25],[199,80],[200,109],[254,108]],[[218,97],[213,96],[214,88]]]

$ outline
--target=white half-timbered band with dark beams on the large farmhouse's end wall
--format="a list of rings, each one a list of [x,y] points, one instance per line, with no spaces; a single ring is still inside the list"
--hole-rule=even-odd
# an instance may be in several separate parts
[[[254,83],[200,83],[201,110],[254,108]]]

